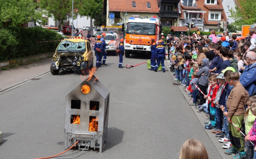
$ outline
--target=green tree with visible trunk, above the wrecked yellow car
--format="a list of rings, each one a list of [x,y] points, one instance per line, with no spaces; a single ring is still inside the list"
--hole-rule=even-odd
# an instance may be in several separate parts
[[[61,30],[63,20],[67,19],[67,14],[72,14],[72,0],[40,0],[40,8],[47,11],[48,17],[53,17],[59,21],[58,31]],[[79,8],[79,0],[74,0],[74,8]],[[74,13],[75,14],[75,13]]]

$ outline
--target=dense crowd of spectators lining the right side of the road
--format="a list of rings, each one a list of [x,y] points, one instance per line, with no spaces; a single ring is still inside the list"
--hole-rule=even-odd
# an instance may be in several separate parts
[[[256,145],[256,25],[251,25],[245,40],[236,39],[226,30],[220,40],[215,30],[208,37],[170,35],[166,42],[169,67],[174,65],[175,81],[190,91],[190,105],[209,116],[205,129],[224,143],[225,154],[253,159],[256,153],[250,141]],[[246,151],[242,134],[233,126],[241,129],[242,123]]]

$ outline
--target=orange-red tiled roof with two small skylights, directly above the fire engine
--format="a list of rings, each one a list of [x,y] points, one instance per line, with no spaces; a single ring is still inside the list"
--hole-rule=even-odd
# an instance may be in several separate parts
[[[132,7],[133,1],[135,1],[136,7]],[[150,2],[151,8],[147,8],[147,2]],[[108,0],[108,3],[109,11],[159,13],[156,0]]]

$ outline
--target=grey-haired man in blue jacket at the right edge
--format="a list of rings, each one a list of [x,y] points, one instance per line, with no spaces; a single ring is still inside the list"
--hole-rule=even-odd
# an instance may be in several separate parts
[[[240,83],[245,87],[245,90],[251,96],[256,91],[256,53],[250,51],[245,57],[248,67],[240,76]]]

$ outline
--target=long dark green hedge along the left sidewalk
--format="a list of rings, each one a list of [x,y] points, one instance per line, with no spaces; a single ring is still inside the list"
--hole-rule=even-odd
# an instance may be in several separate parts
[[[41,27],[0,29],[0,61],[54,52],[60,41],[38,41],[60,39],[63,39],[61,34]]]

